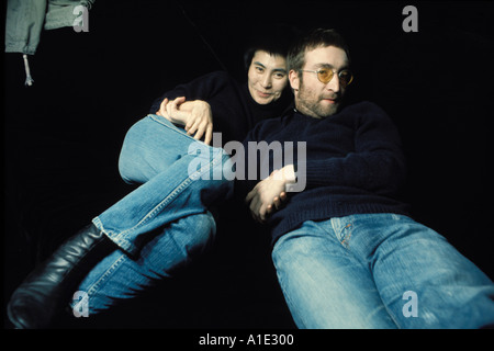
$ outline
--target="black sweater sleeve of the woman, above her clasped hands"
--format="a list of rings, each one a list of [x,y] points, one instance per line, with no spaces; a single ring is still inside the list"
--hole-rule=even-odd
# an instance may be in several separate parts
[[[161,97],[157,98],[153,102],[149,113],[156,113],[156,111],[159,110],[159,106],[165,98],[168,98],[168,100],[173,100],[179,97],[186,97],[186,100],[188,101],[207,101],[220,91],[225,89],[228,82],[229,76],[224,71],[216,71],[199,77],[188,83],[179,84],[172,90],[169,90]]]

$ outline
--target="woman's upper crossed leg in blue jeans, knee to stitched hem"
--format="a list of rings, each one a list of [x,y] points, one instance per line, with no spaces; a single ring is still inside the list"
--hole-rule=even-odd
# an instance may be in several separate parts
[[[141,235],[186,216],[204,213],[232,193],[217,177],[229,156],[188,136],[161,116],[149,115],[127,133],[120,170],[127,182],[142,183],[93,219],[122,250],[135,254]]]

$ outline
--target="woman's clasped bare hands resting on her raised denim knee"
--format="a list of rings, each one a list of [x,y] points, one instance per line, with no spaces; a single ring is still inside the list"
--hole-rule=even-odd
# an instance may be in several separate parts
[[[213,114],[207,102],[202,100],[186,101],[180,97],[172,101],[165,99],[156,113],[168,121],[184,126],[188,135],[193,135],[200,140],[204,136],[204,143],[210,145],[213,138]]]

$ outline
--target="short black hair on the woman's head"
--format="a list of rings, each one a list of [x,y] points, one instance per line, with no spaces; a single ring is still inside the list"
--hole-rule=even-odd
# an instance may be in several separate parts
[[[287,24],[276,24],[271,27],[263,26],[262,33],[255,35],[249,47],[244,54],[246,70],[249,69],[256,52],[267,52],[272,56],[287,57],[290,46],[293,44],[299,31]]]

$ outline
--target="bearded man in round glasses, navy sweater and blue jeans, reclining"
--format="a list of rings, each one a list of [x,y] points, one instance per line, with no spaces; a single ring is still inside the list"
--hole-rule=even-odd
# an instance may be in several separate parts
[[[370,102],[341,109],[352,81],[341,36],[316,30],[288,60],[296,110],[260,123],[245,144],[306,141],[306,159],[238,182],[238,191],[271,228],[272,260],[297,327],[492,325],[491,280],[398,200],[405,166],[390,118]],[[273,201],[296,177],[305,190]]]

